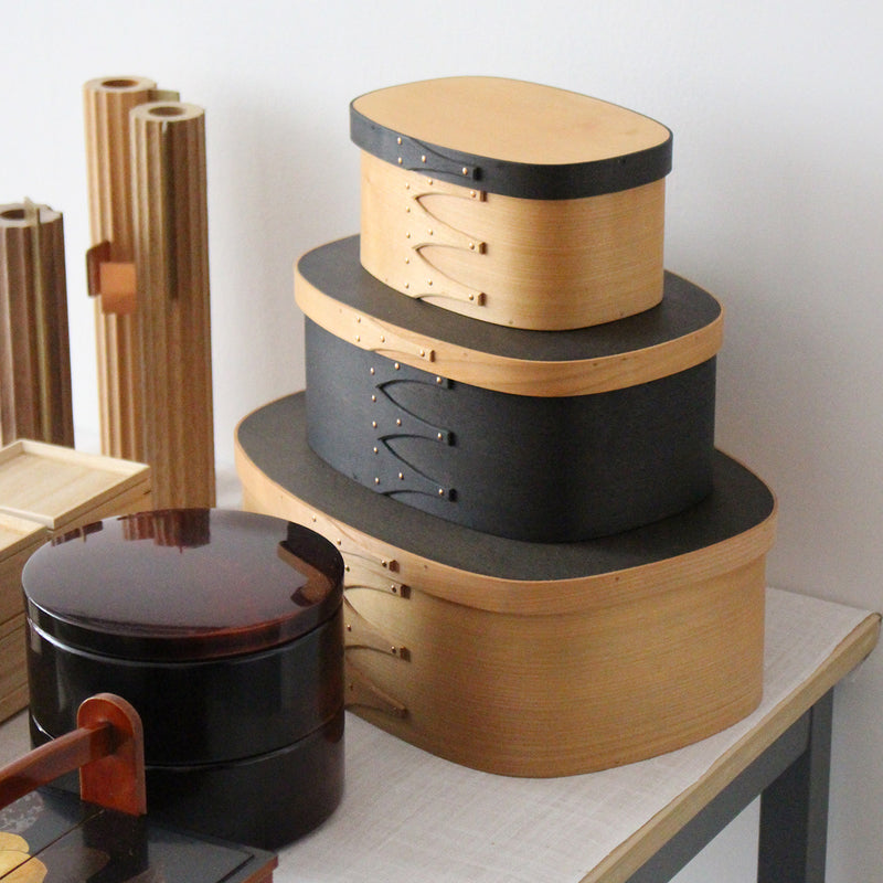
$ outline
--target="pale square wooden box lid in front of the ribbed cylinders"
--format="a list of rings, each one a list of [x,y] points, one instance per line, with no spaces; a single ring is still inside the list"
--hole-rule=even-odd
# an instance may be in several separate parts
[[[145,464],[20,439],[0,450],[0,513],[51,531],[74,524],[98,506],[149,489]]]

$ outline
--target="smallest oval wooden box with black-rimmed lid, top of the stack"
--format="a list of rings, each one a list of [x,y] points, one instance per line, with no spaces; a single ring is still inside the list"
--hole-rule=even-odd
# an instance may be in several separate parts
[[[671,132],[621,107],[498,77],[429,79],[350,106],[365,268],[409,297],[560,330],[662,297]]]

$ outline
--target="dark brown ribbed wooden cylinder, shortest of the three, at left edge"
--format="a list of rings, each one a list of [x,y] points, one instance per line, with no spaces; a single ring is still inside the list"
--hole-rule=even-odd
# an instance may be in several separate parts
[[[0,443],[74,444],[62,215],[0,205]]]

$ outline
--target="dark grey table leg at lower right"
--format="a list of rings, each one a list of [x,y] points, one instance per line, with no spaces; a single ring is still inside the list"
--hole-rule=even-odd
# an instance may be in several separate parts
[[[823,883],[833,691],[810,711],[804,753],[760,798],[757,883]]]

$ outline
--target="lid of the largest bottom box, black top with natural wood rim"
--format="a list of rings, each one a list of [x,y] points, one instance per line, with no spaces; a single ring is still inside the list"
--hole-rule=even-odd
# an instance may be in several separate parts
[[[520,615],[579,611],[732,571],[773,545],[775,496],[720,450],[712,492],[677,515],[582,542],[525,542],[402,506],[341,475],[309,447],[305,404],[304,393],[285,396],[236,428],[237,470],[252,499],[272,487],[275,504],[297,501],[288,509],[296,518],[312,512],[333,524],[344,554],[377,551],[384,566],[395,562],[397,579],[446,600]]]

